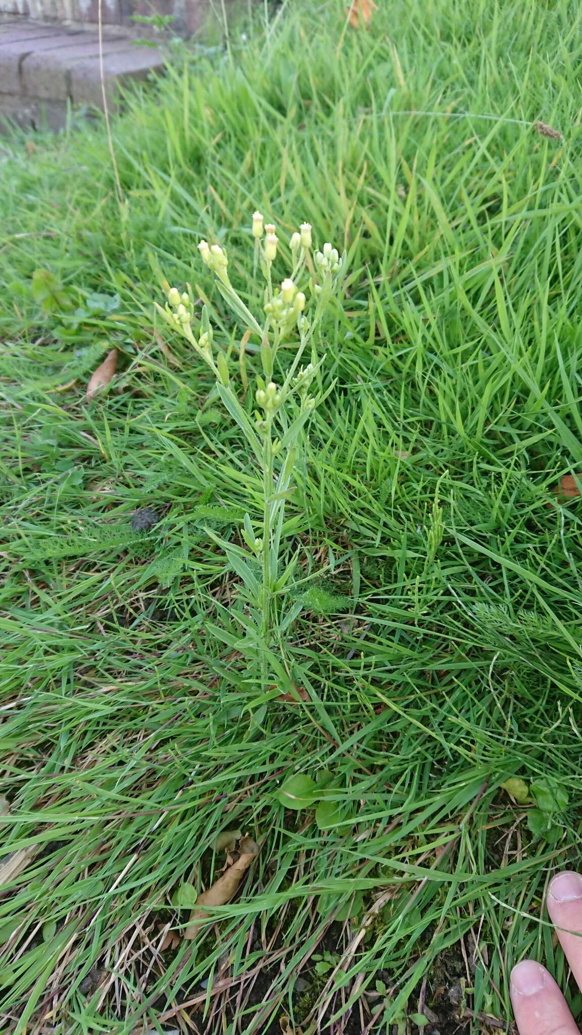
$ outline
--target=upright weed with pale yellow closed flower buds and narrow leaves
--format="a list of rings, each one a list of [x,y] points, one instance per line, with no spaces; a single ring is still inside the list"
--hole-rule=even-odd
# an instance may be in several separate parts
[[[273,677],[277,682],[288,682],[289,670],[281,653],[289,627],[303,605],[301,596],[292,592],[298,554],[282,569],[285,510],[307,424],[325,395],[320,389],[314,393],[318,372],[325,360],[325,355],[318,354],[318,328],[330,300],[339,297],[346,255],[340,256],[330,243],[324,244],[321,252],[314,250],[312,228],[304,223],[290,240],[291,271],[277,288],[273,264],[280,249],[275,227],[265,225],[261,213],[255,212],[252,233],[251,304],[257,316],[230,280],[226,252],[207,241],[199,244],[202,260],[213,272],[223,298],[245,329],[251,343],[249,351],[260,357],[262,374],[256,376],[256,408],[252,412],[239,400],[226,352],[214,342],[207,306],[203,306],[198,329],[194,327],[194,305],[188,292],[170,288],[167,304],[163,307],[156,303],[156,307],[166,323],[186,338],[212,371],[216,392],[242,432],[261,472],[260,527],[257,528],[258,523],[254,524],[249,513],[244,515],[240,529],[244,548],[226,541],[214,532],[208,534],[224,550],[229,565],[240,579],[243,610],[231,613],[243,629],[236,649],[252,662],[252,678],[260,681],[266,691]],[[257,277],[259,269],[264,285]],[[308,350],[309,362],[302,363]],[[273,652],[277,647],[279,658],[277,650]]]

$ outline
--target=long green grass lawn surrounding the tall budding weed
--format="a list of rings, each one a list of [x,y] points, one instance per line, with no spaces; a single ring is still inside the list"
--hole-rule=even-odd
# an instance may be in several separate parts
[[[134,95],[113,124],[121,207],[101,124],[2,143],[14,1035],[251,1035],[284,1014],[303,1035],[342,1017],[391,1035],[425,1001],[446,1035],[438,988],[461,974],[469,1028],[505,1030],[513,963],[568,973],[541,901],[581,823],[582,525],[552,490],[582,464],[582,8],[395,2],[354,32],[344,6],[284,5],[267,27],[261,8],[230,54]],[[298,705],[249,685],[212,631],[237,580],[197,507],[254,513],[256,475],[211,378],[153,331],[161,271],[208,295],[236,347],[197,242],[224,243],[244,286],[256,207],[349,253],[288,531],[350,602],[292,629]],[[85,314],[45,312],[35,269]],[[91,310],[92,292],[118,300]],[[87,405],[113,345],[112,390]],[[135,536],[142,505],[162,520]],[[345,809],[329,831],[277,796],[324,769]],[[555,844],[500,790],[514,775],[568,790]],[[239,898],[159,951],[230,827],[261,845]],[[334,921],[354,892],[357,918]]]

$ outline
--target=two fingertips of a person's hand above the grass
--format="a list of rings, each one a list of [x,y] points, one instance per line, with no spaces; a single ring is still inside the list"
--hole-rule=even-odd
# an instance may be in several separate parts
[[[556,874],[550,881],[546,905],[582,989],[582,876]],[[514,967],[511,992],[520,1035],[579,1035],[560,989],[542,964],[523,959]]]

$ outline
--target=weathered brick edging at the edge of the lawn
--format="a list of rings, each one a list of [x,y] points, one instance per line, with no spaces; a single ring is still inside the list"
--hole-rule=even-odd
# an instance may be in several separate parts
[[[161,70],[157,47],[108,35],[103,41],[103,73],[108,98],[116,87]],[[21,125],[58,129],[69,106],[103,108],[96,32],[26,22],[0,22],[0,125],[9,116]]]

